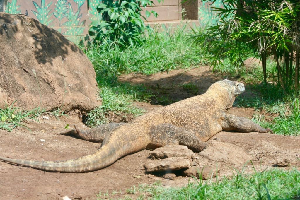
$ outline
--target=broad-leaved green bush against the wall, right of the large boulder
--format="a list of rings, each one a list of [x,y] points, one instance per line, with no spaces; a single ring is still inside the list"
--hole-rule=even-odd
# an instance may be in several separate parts
[[[141,43],[144,31],[150,30],[142,20],[141,7],[152,3],[150,0],[104,0],[97,7],[102,19],[91,23],[89,34],[98,44],[108,42],[126,46]],[[146,11],[146,16],[151,13],[157,16],[154,11]]]

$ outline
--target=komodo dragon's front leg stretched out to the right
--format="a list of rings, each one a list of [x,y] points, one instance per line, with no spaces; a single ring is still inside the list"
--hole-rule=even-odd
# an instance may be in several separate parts
[[[273,131],[269,128],[264,128],[254,123],[248,118],[237,117],[234,115],[224,115],[222,117],[221,127],[224,131],[238,131],[238,132],[259,132],[268,133]]]

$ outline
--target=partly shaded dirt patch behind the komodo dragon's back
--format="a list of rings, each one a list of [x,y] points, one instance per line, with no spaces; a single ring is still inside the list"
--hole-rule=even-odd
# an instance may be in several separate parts
[[[129,74],[119,77],[121,82],[145,85],[150,94],[151,104],[169,105],[177,101],[205,93],[210,85],[221,80],[211,73],[209,66],[193,68],[190,70],[174,70],[149,76]]]

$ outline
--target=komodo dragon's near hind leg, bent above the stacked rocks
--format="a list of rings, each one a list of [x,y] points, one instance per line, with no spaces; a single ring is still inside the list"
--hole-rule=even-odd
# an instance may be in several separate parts
[[[150,130],[151,145],[162,147],[165,145],[185,145],[194,152],[202,151],[206,144],[193,133],[173,124],[159,124]]]

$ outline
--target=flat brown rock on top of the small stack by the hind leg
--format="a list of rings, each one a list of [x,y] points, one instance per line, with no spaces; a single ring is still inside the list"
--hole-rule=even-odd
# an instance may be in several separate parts
[[[164,147],[160,147],[150,152],[151,157],[155,157],[156,159],[164,159],[169,157],[185,157],[191,159],[192,157],[196,157],[196,154],[187,148],[187,146],[183,145],[166,145]]]

